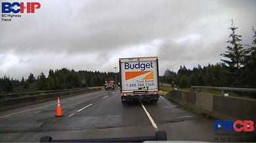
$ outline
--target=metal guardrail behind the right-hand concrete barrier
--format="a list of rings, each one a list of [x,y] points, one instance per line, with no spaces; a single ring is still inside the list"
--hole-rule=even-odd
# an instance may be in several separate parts
[[[209,87],[209,86],[191,86],[190,91],[194,92],[194,89],[199,89],[199,92],[202,92],[201,89],[215,89],[221,90],[224,96],[224,91],[245,91],[245,92],[256,92],[255,88],[234,88],[234,87]]]

